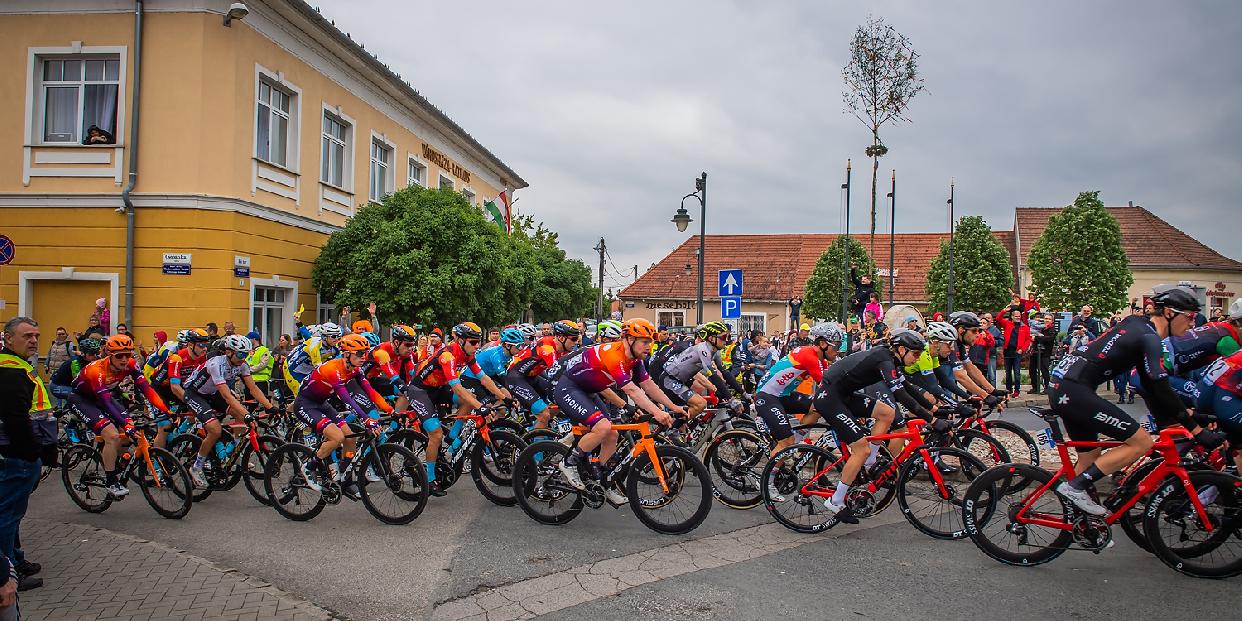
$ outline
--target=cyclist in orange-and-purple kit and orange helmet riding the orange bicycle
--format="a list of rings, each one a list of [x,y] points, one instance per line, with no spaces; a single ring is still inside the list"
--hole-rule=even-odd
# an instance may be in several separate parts
[[[582,354],[565,368],[553,388],[553,397],[560,411],[574,422],[591,430],[578,441],[569,457],[558,465],[561,476],[578,489],[586,488],[579,469],[586,468],[592,479],[600,479],[602,473],[614,466],[610,460],[617,447],[617,432],[612,431],[612,422],[600,407],[596,395],[617,407],[625,407],[625,401],[609,390],[616,386],[632,399],[638,409],[666,427],[672,426],[673,420],[656,405],[657,402],[674,414],[686,414],[651,380],[643,364],[651,355],[656,327],[646,319],[630,319],[623,324],[621,334],[621,340],[584,349]],[[589,457],[596,448],[600,450],[600,463],[604,463],[602,472]],[[626,502],[625,494],[611,486],[605,488],[614,504]]]

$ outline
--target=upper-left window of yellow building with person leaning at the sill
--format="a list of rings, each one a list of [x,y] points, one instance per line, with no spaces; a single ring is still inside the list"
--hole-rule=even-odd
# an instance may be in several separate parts
[[[119,56],[42,57],[39,77],[45,143],[117,143]]]

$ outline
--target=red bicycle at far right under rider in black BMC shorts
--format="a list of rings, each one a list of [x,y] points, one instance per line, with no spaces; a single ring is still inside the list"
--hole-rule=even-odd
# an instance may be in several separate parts
[[[1048,472],[1007,463],[975,478],[966,489],[961,519],[984,554],[1021,566],[1048,563],[1076,545],[1098,554],[1113,542],[1112,524],[1146,498],[1143,532],[1161,561],[1197,578],[1242,574],[1242,479],[1212,469],[1202,453],[1184,457],[1177,445],[1191,438],[1189,431],[1161,430],[1151,453],[1159,458],[1141,468],[1145,474],[1134,471],[1131,481],[1104,501],[1110,514],[1095,517],[1053,489],[1074,477],[1069,448],[1110,448],[1122,442],[1067,442],[1057,415],[1031,412],[1048,424],[1038,436],[1061,456],[1061,468]]]

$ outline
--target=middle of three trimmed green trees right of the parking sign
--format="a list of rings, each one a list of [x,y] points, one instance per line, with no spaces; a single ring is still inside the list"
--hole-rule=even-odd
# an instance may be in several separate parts
[[[940,242],[940,253],[932,260],[927,293],[929,308],[948,308],[949,240]],[[958,220],[953,258],[953,307],[955,310],[995,312],[1010,301],[1013,267],[1009,251],[992,235],[982,216]]]

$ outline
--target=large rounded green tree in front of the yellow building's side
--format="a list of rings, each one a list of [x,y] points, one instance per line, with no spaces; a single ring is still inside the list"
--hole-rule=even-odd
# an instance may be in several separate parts
[[[328,238],[312,283],[337,304],[431,325],[515,320],[544,274],[512,238],[450,190],[411,186],[358,210]]]

